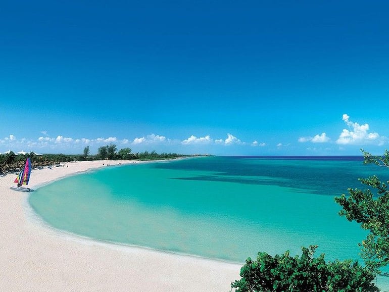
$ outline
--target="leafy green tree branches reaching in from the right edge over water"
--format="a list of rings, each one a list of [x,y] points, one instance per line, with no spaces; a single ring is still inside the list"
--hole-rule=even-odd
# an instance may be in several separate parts
[[[374,163],[389,168],[389,152],[382,156],[373,156],[363,149],[364,163]],[[342,206],[339,215],[349,221],[356,221],[365,230],[369,230],[366,239],[359,246],[366,266],[374,273],[380,273],[381,267],[389,264],[389,190],[387,184],[377,176],[359,179],[368,188],[348,188],[349,196],[342,194],[335,202]]]

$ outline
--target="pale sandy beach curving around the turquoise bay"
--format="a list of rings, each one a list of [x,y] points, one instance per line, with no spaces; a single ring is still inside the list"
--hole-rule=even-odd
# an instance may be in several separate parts
[[[66,163],[33,170],[36,188],[61,177],[128,161]],[[0,177],[2,291],[229,291],[240,265],[80,239],[31,220],[29,194]]]

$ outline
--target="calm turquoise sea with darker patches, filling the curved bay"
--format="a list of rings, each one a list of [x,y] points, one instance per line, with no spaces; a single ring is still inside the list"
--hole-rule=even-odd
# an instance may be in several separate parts
[[[366,232],[333,198],[373,174],[389,171],[362,157],[202,157],[82,173],[29,203],[55,228],[124,245],[236,263],[318,245],[358,259]]]

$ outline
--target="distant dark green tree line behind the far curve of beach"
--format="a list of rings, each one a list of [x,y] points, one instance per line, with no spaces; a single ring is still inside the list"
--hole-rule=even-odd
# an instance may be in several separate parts
[[[117,150],[115,144],[100,147],[96,155],[90,155],[89,146],[85,147],[82,154],[66,155],[66,154],[42,154],[36,155],[31,152],[25,155],[16,155],[14,152],[8,154],[0,154],[0,173],[14,172],[20,170],[27,157],[30,157],[33,167],[44,167],[48,165],[58,165],[64,162],[84,161],[84,160],[162,160],[185,157],[177,153],[161,153],[152,152],[138,152],[132,153],[130,148]]]

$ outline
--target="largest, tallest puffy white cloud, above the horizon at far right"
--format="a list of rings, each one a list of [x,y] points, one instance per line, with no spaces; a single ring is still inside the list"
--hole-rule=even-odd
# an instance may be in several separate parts
[[[343,121],[349,129],[343,129],[339,138],[336,140],[337,144],[342,145],[362,145],[362,144],[376,144],[383,145],[387,141],[386,137],[380,136],[376,132],[369,132],[369,125],[367,123],[360,125],[350,121],[350,117],[344,114]]]

